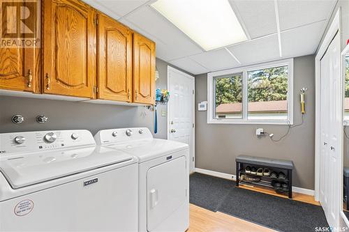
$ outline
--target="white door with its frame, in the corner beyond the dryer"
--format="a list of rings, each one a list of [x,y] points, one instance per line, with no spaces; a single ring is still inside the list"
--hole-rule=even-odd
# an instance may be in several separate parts
[[[190,172],[195,168],[195,79],[168,66],[168,139],[186,143],[190,147]]]

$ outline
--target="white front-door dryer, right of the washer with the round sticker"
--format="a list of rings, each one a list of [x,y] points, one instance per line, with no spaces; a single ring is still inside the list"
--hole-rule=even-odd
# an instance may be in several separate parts
[[[154,139],[146,127],[101,130],[97,144],[139,159],[140,231],[186,231],[189,226],[189,148]]]

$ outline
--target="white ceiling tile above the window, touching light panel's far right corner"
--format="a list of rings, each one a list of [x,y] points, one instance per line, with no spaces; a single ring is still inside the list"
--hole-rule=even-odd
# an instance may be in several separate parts
[[[279,59],[279,42],[276,35],[258,38],[228,47],[242,65]]]

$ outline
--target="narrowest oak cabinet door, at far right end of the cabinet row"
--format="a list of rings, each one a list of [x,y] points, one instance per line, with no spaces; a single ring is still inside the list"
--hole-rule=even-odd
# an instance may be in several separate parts
[[[155,43],[133,34],[133,102],[155,103]]]

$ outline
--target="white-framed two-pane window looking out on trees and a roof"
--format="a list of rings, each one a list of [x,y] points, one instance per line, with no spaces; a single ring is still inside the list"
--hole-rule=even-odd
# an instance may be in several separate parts
[[[292,71],[288,59],[210,72],[207,123],[292,124]]]

